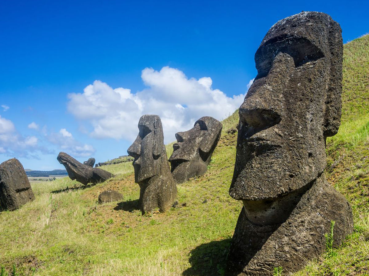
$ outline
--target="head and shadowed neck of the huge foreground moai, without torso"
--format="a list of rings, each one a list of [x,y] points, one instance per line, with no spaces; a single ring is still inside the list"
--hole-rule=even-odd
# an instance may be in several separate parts
[[[325,139],[341,118],[342,49],[337,22],[302,12],[273,25],[256,51],[258,75],[239,108],[229,191],[253,222],[285,219],[286,195],[323,172]]]

